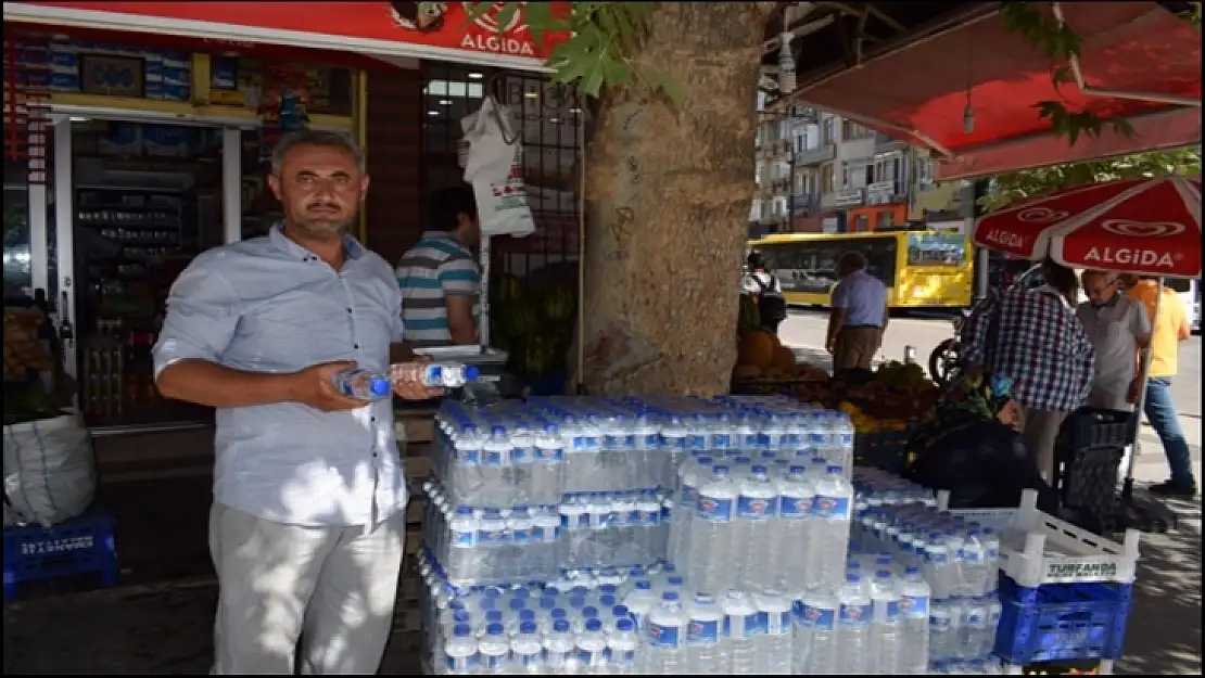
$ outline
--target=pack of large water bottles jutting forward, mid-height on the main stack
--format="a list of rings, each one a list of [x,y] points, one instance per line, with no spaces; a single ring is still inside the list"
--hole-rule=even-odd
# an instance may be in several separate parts
[[[780,419],[759,406],[742,414],[772,424],[777,437],[798,413]],[[800,417],[805,432],[787,444],[693,450],[680,465],[668,553],[699,590],[840,586],[853,509],[852,436],[842,441],[827,421],[817,426],[823,440],[806,432],[816,425],[807,417],[824,414]]]

